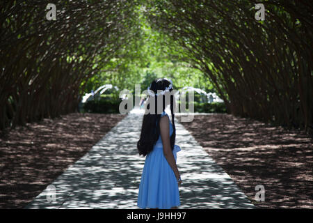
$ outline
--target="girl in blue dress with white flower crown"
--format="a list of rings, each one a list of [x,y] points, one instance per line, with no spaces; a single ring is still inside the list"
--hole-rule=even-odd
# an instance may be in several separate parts
[[[139,155],[147,155],[139,185],[139,208],[177,208],[180,205],[178,186],[182,180],[176,165],[176,153],[180,148],[175,145],[175,98],[170,94],[171,91],[172,81],[166,78],[154,79],[148,87],[149,98],[143,116],[141,137],[137,143]],[[168,106],[166,102],[168,104],[169,101],[165,100],[166,96],[170,96],[172,123],[164,111]],[[162,103],[159,103],[159,97]],[[154,114],[147,112],[152,100],[155,101]],[[162,107],[161,114],[157,114],[158,106]]]

